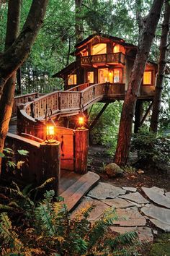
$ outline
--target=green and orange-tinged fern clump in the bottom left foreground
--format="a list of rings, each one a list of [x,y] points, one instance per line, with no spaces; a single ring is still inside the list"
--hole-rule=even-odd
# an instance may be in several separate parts
[[[19,197],[26,198],[17,184],[14,186]],[[61,198],[53,202],[53,197],[54,191],[50,190],[38,205],[32,202],[27,209],[23,205],[24,215],[17,226],[7,213],[1,213],[1,255],[138,255],[140,244],[135,232],[107,236],[109,226],[118,218],[115,210],[109,208],[91,225],[90,204],[70,218]]]

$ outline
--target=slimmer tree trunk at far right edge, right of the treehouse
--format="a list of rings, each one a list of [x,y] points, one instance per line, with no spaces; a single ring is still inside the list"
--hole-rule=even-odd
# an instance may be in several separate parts
[[[170,4],[166,1],[164,22],[162,25],[161,32],[161,43],[160,43],[160,56],[158,61],[158,76],[156,80],[156,90],[153,99],[153,111],[151,116],[151,130],[153,132],[158,131],[158,116],[161,106],[161,92],[164,83],[164,74],[166,69],[166,52],[167,52],[167,42],[169,35],[169,22],[170,22]]]

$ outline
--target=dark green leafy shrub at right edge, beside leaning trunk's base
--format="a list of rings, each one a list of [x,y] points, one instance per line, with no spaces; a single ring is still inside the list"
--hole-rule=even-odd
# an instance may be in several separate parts
[[[156,136],[148,127],[141,127],[138,134],[133,135],[131,151],[138,153],[140,166],[164,170],[170,161],[170,138]]]

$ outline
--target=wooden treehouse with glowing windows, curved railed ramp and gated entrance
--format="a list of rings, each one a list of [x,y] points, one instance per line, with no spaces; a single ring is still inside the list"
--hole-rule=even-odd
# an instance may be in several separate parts
[[[91,129],[109,103],[124,100],[136,53],[136,46],[120,38],[90,35],[76,45],[72,53],[76,61],[53,75],[64,80],[65,90],[15,98],[17,135],[9,133],[6,145],[30,152],[22,180],[40,183],[54,176],[55,191],[65,197],[69,209],[99,180],[86,170],[89,130],[83,112],[94,103],[105,103]],[[135,130],[151,108],[141,116],[143,101],[152,104],[156,72],[157,64],[148,62],[135,110]],[[16,124],[10,127],[13,133]]]

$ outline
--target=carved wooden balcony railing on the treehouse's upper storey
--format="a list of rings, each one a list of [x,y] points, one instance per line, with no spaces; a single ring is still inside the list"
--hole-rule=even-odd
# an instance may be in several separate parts
[[[98,54],[90,56],[81,56],[81,66],[91,66],[92,64],[123,64],[125,65],[125,54]]]

